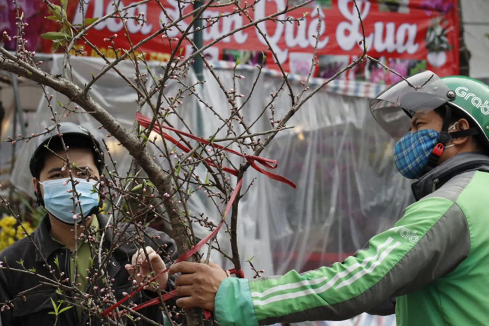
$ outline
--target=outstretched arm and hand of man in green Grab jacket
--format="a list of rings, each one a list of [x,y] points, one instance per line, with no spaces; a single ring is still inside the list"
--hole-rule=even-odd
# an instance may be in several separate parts
[[[214,299],[206,284],[219,278],[211,267],[198,266],[185,275],[181,295],[189,297],[177,304],[213,308],[221,326],[344,320],[431,283],[463,261],[469,249],[460,207],[448,199],[427,198],[409,206],[395,227],[370,239],[355,256],[330,267],[256,281],[225,278]],[[178,264],[174,271],[189,273],[188,264],[187,271]]]

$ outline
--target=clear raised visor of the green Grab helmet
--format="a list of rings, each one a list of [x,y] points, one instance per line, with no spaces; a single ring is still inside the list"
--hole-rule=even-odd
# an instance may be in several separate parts
[[[370,102],[370,111],[380,127],[399,140],[411,127],[411,119],[439,108],[450,100],[450,88],[435,73],[426,70],[392,85]]]

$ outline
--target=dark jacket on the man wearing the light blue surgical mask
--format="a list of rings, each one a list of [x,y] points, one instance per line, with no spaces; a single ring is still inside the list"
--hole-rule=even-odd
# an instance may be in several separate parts
[[[97,215],[97,218],[99,220],[100,227],[103,228],[107,224],[108,218],[103,215]],[[119,224],[118,230],[124,230],[125,226],[127,226],[127,224]],[[0,260],[3,263],[3,266],[22,269],[22,266],[19,264],[19,262],[22,260],[25,269],[35,268],[36,273],[52,280],[53,275],[50,274],[48,268],[45,267],[43,257],[55,270],[58,269],[55,264],[55,258],[58,257],[59,272],[55,272],[55,274],[57,274],[56,277],[60,280],[67,278],[70,268],[70,262],[69,259],[67,259],[67,257],[70,256],[69,250],[61,247],[58,242],[51,238],[49,229],[49,218],[45,216],[38,228],[31,235],[34,243],[26,237],[8,246],[0,253]],[[131,293],[133,291],[132,280],[129,279],[130,275],[124,268],[124,265],[131,263],[133,254],[136,252],[137,248],[141,247],[141,245],[136,247],[136,245],[131,242],[131,235],[134,233],[135,228],[133,225],[130,225],[127,231],[124,233],[125,237],[129,239],[129,241],[126,241],[126,243],[123,241],[117,241],[117,243],[120,243],[120,246],[113,251],[106,267],[109,279],[113,279],[112,290],[114,291],[113,293],[117,300],[123,298],[123,292]],[[145,246],[151,246],[157,250],[158,246],[164,247],[164,245],[166,245],[165,250],[168,254],[172,252],[172,259],[175,260],[178,257],[175,242],[170,239],[167,234],[156,231],[152,228],[146,228],[145,234]],[[111,247],[113,235],[113,228],[107,228],[103,250]],[[39,249],[42,256],[36,247]],[[162,257],[165,264],[169,266],[171,262],[168,260],[168,258],[165,255],[162,255]],[[98,259],[95,258],[92,269],[97,265]],[[64,275],[61,274],[63,276],[60,276],[60,273],[64,273]],[[93,274],[91,273],[90,275]],[[53,311],[51,298],[55,303],[57,303],[58,300],[63,300],[63,297],[62,295],[56,293],[55,287],[45,285],[41,282],[42,280],[40,277],[29,273],[22,273],[9,269],[0,269],[0,302],[4,303],[6,301],[13,300],[13,307],[10,309],[4,308],[1,312],[3,326],[54,325],[55,316],[53,314],[49,314],[49,312]],[[97,291],[104,288],[101,278],[99,278],[97,285]],[[173,289],[174,279],[171,278],[169,280],[169,290]],[[93,286],[89,284],[87,293],[93,294],[93,291]],[[72,296],[71,293],[65,292],[64,294],[70,297]],[[132,302],[135,304],[140,304],[156,296],[157,294],[154,292],[143,290],[134,295]],[[103,297],[103,294],[101,296],[99,295],[99,297]],[[129,302],[130,301],[127,301],[124,304],[128,304]],[[171,306],[174,305],[174,303],[169,302],[166,304],[171,304]],[[66,304],[62,305],[62,307],[64,306],[66,306]],[[105,308],[108,308],[109,306],[110,304],[108,303],[104,304]],[[159,324],[163,324],[163,314],[159,305],[143,308],[138,310],[138,312]],[[123,318],[122,322],[123,324],[118,325],[125,325],[126,323],[127,325],[149,325],[147,322],[133,322],[128,318]],[[109,325],[109,323],[103,322],[98,316],[89,317],[85,310],[83,311],[81,320],[79,320],[76,310],[71,308],[59,315],[58,325],[99,326]]]

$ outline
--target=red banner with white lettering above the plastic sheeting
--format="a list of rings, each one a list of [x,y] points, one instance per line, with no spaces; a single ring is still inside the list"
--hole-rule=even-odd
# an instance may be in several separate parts
[[[287,3],[290,8],[300,4],[301,1],[304,0],[260,0],[253,9],[248,9],[249,17],[257,21],[282,10]],[[114,11],[112,0],[86,0],[83,1],[84,8],[80,8],[78,2],[69,1],[68,4],[68,18],[73,23],[82,21],[82,12],[86,13],[86,18],[98,18]],[[357,0],[356,2],[360,9],[370,56],[378,58],[404,76],[424,69],[433,70],[442,76],[458,74],[459,22],[456,0]],[[120,7],[131,3],[136,2],[120,1]],[[161,3],[174,20],[178,19],[180,12],[185,15],[192,11],[192,4],[183,7],[182,1],[161,0]],[[251,3],[252,0],[249,0],[248,4]],[[245,4],[246,2],[242,0],[241,7]],[[232,14],[236,8],[236,5],[230,4],[204,11],[202,15],[204,26],[210,25],[203,30],[204,44],[212,43],[250,22],[244,14]],[[156,33],[162,24],[169,21],[155,0],[134,6],[124,14],[127,14],[127,17],[144,14],[147,19],[147,23],[144,24],[138,24],[133,19],[127,20],[129,38],[133,44]],[[222,17],[216,19],[220,15]],[[304,20],[300,23],[268,20],[258,24],[258,27],[266,33],[278,61],[287,71],[308,73],[316,37],[318,61],[314,70],[316,77],[332,76],[362,53],[363,45],[358,44],[362,38],[362,28],[353,0],[316,0],[275,18],[285,21],[287,17],[304,17]],[[218,22],[211,23],[213,19]],[[186,29],[191,22],[192,17],[188,17],[180,23],[180,28]],[[51,25],[51,28],[54,27]],[[111,18],[99,23],[89,31],[87,39],[97,45],[107,57],[113,58],[115,53],[108,48],[110,43],[106,40],[114,34],[117,34],[114,38],[116,48],[130,47],[120,18]],[[179,38],[181,33],[173,27],[168,31],[168,36]],[[169,42],[168,38],[158,35],[137,50],[145,53],[148,60],[165,61],[171,53]],[[174,46],[177,43],[171,42]],[[88,56],[97,55],[86,44],[82,42],[78,44],[78,46],[82,45]],[[50,41],[45,41],[44,51],[50,52],[51,46]],[[205,55],[211,60],[236,61],[240,58],[244,63],[258,64],[265,54],[267,67],[277,68],[267,48],[265,39],[258,29],[252,26],[213,44],[205,51]],[[182,43],[181,51],[185,56],[192,53],[189,42]],[[386,73],[381,66],[370,61],[358,65],[342,78],[387,84],[399,80],[399,77]]]

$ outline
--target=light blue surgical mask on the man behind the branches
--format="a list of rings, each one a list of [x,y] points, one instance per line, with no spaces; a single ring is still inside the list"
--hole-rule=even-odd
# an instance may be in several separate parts
[[[44,189],[44,208],[52,216],[67,224],[75,224],[73,216],[80,214],[80,206],[83,216],[87,217],[90,211],[99,204],[99,194],[93,191],[97,181],[87,181],[81,178],[74,178],[74,180],[79,181],[75,184],[75,189],[80,195],[78,197],[80,204],[76,205],[76,213],[73,213],[73,199],[70,199],[74,193],[71,192],[73,187],[69,179],[61,178],[41,182]],[[81,220],[81,217],[76,219],[77,223]]]

